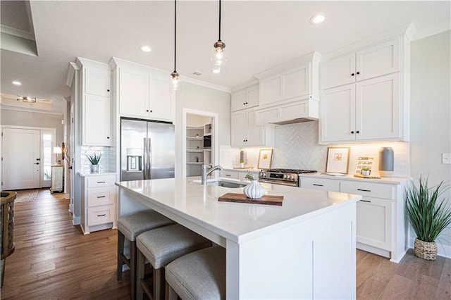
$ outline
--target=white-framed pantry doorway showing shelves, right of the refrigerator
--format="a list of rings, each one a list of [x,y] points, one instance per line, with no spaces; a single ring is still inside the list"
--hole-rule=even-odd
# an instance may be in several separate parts
[[[218,113],[183,108],[183,177],[219,161]]]

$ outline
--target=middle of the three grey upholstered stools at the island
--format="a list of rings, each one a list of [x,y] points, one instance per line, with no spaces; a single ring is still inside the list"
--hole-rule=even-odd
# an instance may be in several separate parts
[[[136,238],[137,299],[142,299],[143,292],[150,299],[164,299],[163,267],[180,256],[209,246],[209,239],[179,224],[156,228],[139,235]],[[144,280],[145,258],[152,265],[152,289]]]

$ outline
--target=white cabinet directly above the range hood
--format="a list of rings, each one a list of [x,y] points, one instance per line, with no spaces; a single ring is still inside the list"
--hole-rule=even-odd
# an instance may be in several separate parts
[[[312,52],[255,75],[259,78],[260,106],[281,101],[318,99],[318,68],[320,55]]]

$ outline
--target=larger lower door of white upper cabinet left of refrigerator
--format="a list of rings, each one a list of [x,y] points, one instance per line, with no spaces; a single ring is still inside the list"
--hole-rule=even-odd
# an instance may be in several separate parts
[[[84,146],[111,146],[111,98],[85,94],[83,105]]]

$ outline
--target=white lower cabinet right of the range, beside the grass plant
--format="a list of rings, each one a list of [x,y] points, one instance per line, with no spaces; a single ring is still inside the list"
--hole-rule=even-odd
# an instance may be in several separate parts
[[[399,263],[407,251],[403,193],[407,179],[394,183],[301,176],[301,187],[360,194],[357,202],[357,248]]]

